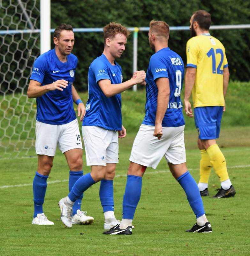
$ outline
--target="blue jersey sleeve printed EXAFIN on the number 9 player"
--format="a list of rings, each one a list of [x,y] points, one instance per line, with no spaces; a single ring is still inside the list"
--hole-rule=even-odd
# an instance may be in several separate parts
[[[166,64],[163,60],[158,56],[158,54],[154,54],[149,61],[149,68],[154,77],[154,81],[160,77],[168,78],[168,70]]]

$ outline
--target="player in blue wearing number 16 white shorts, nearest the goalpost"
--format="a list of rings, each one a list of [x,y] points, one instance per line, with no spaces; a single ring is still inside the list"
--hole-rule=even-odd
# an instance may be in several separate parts
[[[82,175],[82,142],[73,102],[82,121],[85,106],[73,86],[77,57],[73,55],[73,28],[61,24],[55,29],[55,48],[39,56],[33,67],[27,95],[36,98],[36,154],[38,169],[33,181],[34,218],[32,224],[54,225],[43,212],[47,179],[57,145],[70,168],[69,190]],[[81,194],[73,206],[73,223],[90,224],[94,218],[81,211]]]

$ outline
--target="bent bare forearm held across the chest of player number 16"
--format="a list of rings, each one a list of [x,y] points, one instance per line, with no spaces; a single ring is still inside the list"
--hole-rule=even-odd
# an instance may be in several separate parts
[[[63,91],[63,88],[68,86],[68,82],[64,79],[57,80],[52,84],[41,86],[41,83],[36,80],[30,80],[27,91],[28,98],[38,98],[49,91],[59,90]]]

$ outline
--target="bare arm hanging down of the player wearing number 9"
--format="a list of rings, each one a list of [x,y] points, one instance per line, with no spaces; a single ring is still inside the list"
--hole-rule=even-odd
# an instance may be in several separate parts
[[[167,77],[159,77],[155,80],[155,83],[158,88],[158,96],[157,96],[154,136],[157,137],[158,140],[160,140],[163,135],[162,120],[168,108],[170,87],[169,87],[169,79]]]

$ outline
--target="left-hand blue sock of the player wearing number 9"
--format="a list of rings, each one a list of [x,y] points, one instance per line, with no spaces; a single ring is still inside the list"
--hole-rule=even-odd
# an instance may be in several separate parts
[[[137,204],[140,201],[142,177],[135,175],[127,176],[125,194],[123,196],[123,219],[133,220]],[[200,193],[200,192],[199,192]]]

